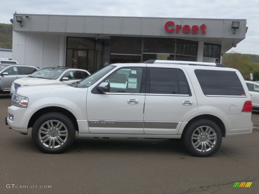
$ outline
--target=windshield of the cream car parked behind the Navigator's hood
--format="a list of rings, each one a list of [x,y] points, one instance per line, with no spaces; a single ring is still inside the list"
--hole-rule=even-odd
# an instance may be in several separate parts
[[[41,69],[32,73],[29,77],[43,79],[57,79],[65,71],[65,69]]]

